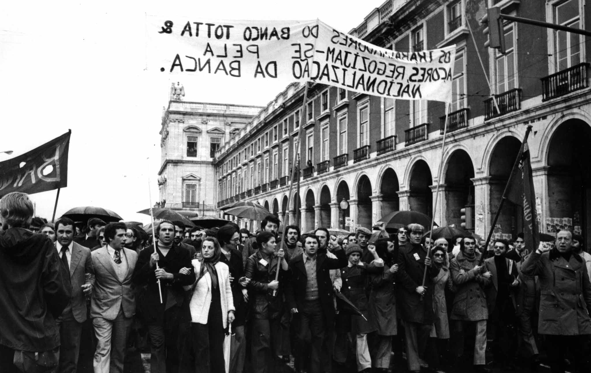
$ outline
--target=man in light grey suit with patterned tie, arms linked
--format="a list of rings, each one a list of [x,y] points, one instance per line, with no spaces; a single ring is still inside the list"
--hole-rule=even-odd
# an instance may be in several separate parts
[[[105,226],[106,245],[92,252],[95,288],[90,317],[95,327],[95,373],[123,373],[125,341],[135,314],[134,273],[138,254],[126,249],[125,223]]]

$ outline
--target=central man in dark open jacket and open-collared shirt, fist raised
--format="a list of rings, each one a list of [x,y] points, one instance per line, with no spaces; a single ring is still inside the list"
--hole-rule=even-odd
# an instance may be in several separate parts
[[[345,252],[336,246],[329,258],[326,254],[317,254],[319,240],[316,236],[306,236],[304,253],[294,257],[290,262],[291,281],[287,283],[287,302],[291,313],[300,315],[299,346],[303,346],[307,330],[310,331],[312,346],[310,356],[310,373],[319,373],[321,362],[329,356],[322,351],[323,340],[327,330],[334,327],[335,307],[333,306],[333,284],[329,270],[336,270],[347,265]],[[297,353],[300,353],[298,351]],[[302,356],[298,356],[302,361]],[[322,366],[326,366],[323,362]]]

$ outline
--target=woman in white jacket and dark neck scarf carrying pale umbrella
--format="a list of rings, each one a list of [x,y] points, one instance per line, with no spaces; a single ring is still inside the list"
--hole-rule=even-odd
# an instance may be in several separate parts
[[[206,237],[202,259],[191,261],[197,280],[189,302],[194,372],[225,371],[224,329],[234,320],[234,303],[228,265],[219,261],[222,248],[217,239]]]

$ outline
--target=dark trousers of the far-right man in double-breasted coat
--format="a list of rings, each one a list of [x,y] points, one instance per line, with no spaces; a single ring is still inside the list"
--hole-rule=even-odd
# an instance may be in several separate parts
[[[574,369],[571,372],[588,372],[587,364],[588,351],[583,351],[587,335],[563,336],[563,335],[545,335],[546,349],[548,355],[548,364],[552,373],[564,373],[566,366],[564,359],[574,358]],[[567,356],[567,353],[569,354]]]

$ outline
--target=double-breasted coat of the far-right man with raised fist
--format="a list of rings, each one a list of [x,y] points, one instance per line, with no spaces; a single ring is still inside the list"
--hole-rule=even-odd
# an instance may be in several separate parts
[[[537,275],[540,284],[538,333],[591,334],[591,283],[584,260],[571,254],[566,261],[556,248],[532,252],[521,266],[526,275]]]

